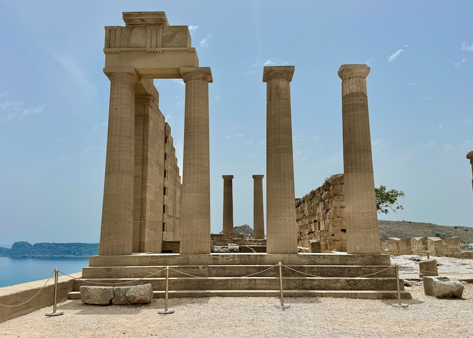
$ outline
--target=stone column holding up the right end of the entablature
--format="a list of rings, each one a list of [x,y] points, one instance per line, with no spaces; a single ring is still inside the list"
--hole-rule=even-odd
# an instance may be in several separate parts
[[[208,83],[210,68],[180,68],[186,83],[181,193],[181,254],[210,253]]]

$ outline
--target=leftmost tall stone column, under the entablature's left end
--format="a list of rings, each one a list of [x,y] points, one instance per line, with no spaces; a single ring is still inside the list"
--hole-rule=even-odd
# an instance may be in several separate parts
[[[105,74],[110,79],[107,155],[99,255],[131,255],[135,144],[135,70]]]

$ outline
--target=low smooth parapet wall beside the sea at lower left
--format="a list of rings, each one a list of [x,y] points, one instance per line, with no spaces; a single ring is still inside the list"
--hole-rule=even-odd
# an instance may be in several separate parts
[[[73,291],[74,288],[74,279],[80,278],[82,272],[71,274],[71,276],[74,278],[68,276],[60,276],[58,278],[58,303],[68,299],[68,292]],[[44,283],[46,283],[46,280],[47,279],[36,280],[34,282],[0,288],[0,304],[17,305],[28,301],[41,289]],[[28,303],[15,307],[0,306],[0,323],[52,305],[53,302],[54,277],[51,277],[41,292]]]

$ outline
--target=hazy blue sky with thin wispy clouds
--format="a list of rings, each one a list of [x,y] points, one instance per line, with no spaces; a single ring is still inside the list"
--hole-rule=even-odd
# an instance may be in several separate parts
[[[0,246],[99,241],[104,26],[125,26],[127,11],[189,26],[212,70],[212,232],[222,175],[235,176],[234,225],[253,226],[252,175],[266,174],[263,67],[285,65],[296,68],[296,197],[343,172],[337,71],[367,64],[375,185],[405,192],[404,210],[379,219],[473,226],[472,1],[0,0]],[[182,172],[185,86],[155,86]]]

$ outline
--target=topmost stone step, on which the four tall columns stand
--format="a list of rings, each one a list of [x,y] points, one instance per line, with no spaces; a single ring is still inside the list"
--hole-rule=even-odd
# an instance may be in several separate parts
[[[91,256],[89,267],[123,266],[208,266],[208,265],[360,265],[389,266],[389,255],[349,255],[337,253],[212,253],[208,255],[133,254],[126,256]]]

